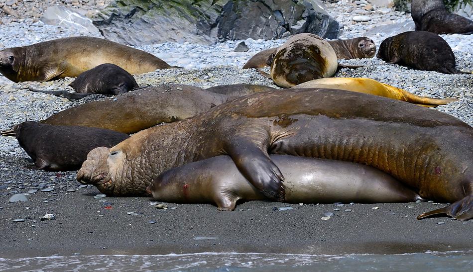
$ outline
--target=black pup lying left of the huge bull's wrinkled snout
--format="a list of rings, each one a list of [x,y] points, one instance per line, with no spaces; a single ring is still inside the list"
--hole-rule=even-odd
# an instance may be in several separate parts
[[[89,151],[99,146],[112,147],[129,137],[113,130],[34,121],[17,124],[13,130],[35,167],[48,171],[78,170]]]

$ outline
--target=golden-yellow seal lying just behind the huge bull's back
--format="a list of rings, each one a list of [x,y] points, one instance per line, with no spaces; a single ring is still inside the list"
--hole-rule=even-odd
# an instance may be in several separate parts
[[[391,99],[406,101],[425,107],[436,107],[457,101],[456,98],[429,98],[415,95],[408,91],[366,78],[326,78],[311,80],[292,88],[324,88],[363,92]]]

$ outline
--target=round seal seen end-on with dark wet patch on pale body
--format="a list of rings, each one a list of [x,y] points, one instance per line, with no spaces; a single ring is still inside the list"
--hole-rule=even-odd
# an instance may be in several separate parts
[[[292,36],[276,50],[271,62],[271,78],[282,88],[332,77],[338,62],[332,46],[323,38],[301,33]]]

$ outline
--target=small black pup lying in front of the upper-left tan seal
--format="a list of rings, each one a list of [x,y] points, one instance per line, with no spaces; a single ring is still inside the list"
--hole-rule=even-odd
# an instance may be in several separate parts
[[[80,74],[69,86],[75,93],[68,91],[41,91],[28,89],[30,91],[39,91],[43,93],[62,95],[70,100],[80,99],[89,94],[100,93],[105,95],[118,95],[138,88],[138,84],[133,76],[119,66],[111,63],[101,64],[91,70]]]

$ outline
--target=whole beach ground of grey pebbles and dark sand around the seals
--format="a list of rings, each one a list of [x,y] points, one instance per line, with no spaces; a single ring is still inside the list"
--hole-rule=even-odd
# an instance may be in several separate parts
[[[15,3],[10,4],[12,2]],[[87,3],[92,2],[94,4],[89,7],[93,9],[101,8],[100,3],[106,1],[0,0],[3,12],[7,6],[17,13],[17,16],[1,17],[0,48],[83,34],[45,25],[37,20],[38,16],[33,12],[40,14],[47,4],[56,2],[70,2],[82,8],[87,8]],[[378,24],[410,20],[409,14],[370,7],[363,0],[355,2],[343,0],[327,3],[329,13],[344,25],[341,38],[363,35]],[[100,33],[88,35],[100,36]],[[387,36],[380,33],[370,37],[379,45]],[[472,71],[472,35],[442,37],[451,45],[458,67]],[[236,83],[274,87],[270,80],[254,70],[240,70],[240,67],[256,52],[277,46],[284,40],[248,39],[245,43],[249,51],[239,53],[234,52],[238,42],[228,41],[212,46],[166,43],[139,47],[171,65],[185,69],[138,75],[136,81],[139,85],[179,83],[203,88]],[[473,125],[472,75],[415,71],[376,58],[341,62],[363,67],[344,69],[337,77],[367,77],[420,95],[459,98],[457,102],[432,110],[450,113]],[[72,80],[15,84],[0,76],[0,130],[9,129],[24,120],[46,118],[79,103],[20,90],[25,87],[62,90],[68,88]],[[100,96],[87,99],[100,99]],[[287,208],[290,209],[284,210],[286,207],[281,203],[255,201],[238,206],[235,212],[217,212],[211,205],[169,203],[166,210],[161,210],[156,209],[155,203],[148,198],[102,198],[95,187],[75,181],[75,172],[31,170],[25,167],[32,165],[28,156],[13,137],[0,137],[0,154],[1,257],[75,252],[133,254],[229,250],[313,254],[401,253],[472,248],[470,234],[473,225],[470,221],[415,219],[419,213],[444,204],[289,205]],[[9,202],[16,193],[23,193],[28,201]],[[278,210],[278,207],[283,210]],[[40,220],[40,217],[50,213],[56,219]],[[330,216],[329,220],[321,219],[327,216]]]

